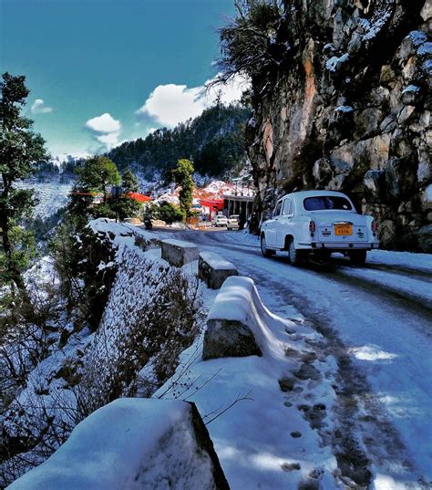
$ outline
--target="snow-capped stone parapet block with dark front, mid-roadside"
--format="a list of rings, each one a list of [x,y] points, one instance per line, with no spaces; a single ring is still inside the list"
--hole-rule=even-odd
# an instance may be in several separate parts
[[[258,293],[252,279],[228,277],[207,318],[202,359],[262,356],[256,315]]]

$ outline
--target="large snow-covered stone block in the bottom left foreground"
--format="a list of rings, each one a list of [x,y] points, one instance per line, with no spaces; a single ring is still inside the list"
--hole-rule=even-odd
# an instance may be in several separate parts
[[[185,401],[120,399],[93,412],[11,490],[228,488],[209,433]]]

